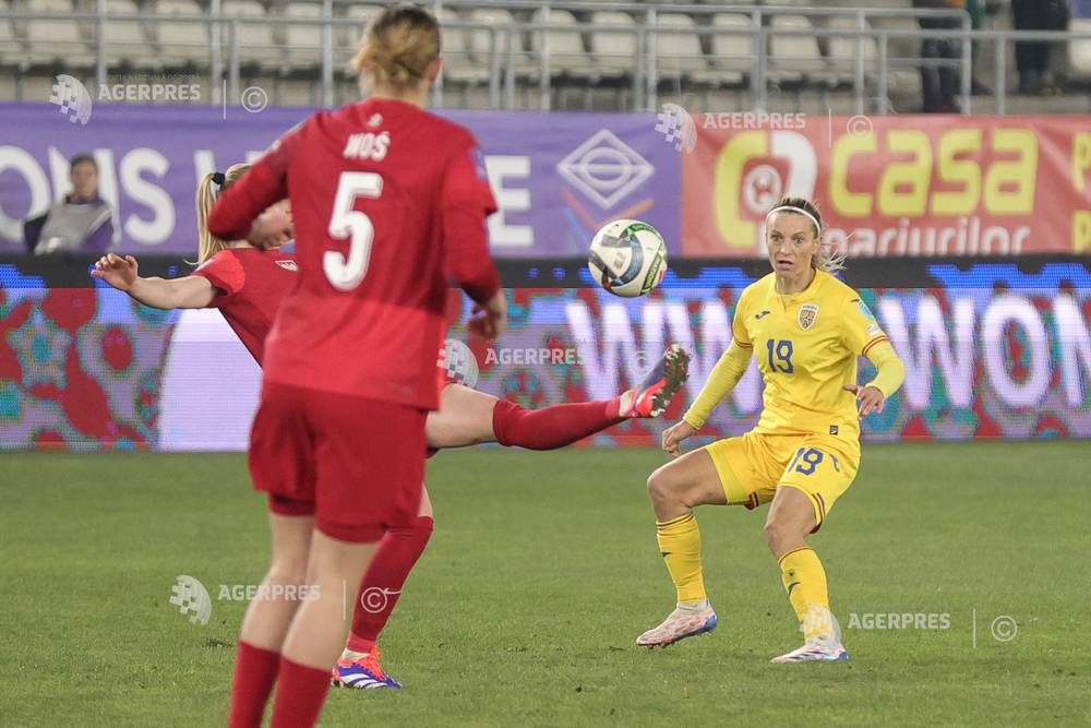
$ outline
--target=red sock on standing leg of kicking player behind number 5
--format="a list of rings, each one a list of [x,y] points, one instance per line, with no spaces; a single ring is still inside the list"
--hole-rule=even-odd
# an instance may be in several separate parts
[[[409,526],[391,528],[379,542],[379,550],[363,575],[352,608],[352,629],[346,645],[349,649],[358,653],[374,651],[375,640],[398,602],[409,571],[432,537],[432,525],[431,517],[417,516]]]

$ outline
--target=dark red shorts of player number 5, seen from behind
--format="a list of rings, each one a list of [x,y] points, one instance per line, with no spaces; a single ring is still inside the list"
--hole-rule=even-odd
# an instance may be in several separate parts
[[[408,524],[424,477],[422,409],[265,382],[250,433],[254,489],[280,515],[314,515],[344,541]]]

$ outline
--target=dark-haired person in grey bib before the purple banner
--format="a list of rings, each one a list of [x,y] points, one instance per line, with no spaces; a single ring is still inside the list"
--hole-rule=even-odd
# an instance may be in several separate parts
[[[113,241],[113,208],[98,196],[98,164],[89,154],[72,157],[72,191],[44,215],[23,223],[27,250],[41,255],[55,252],[104,253]]]

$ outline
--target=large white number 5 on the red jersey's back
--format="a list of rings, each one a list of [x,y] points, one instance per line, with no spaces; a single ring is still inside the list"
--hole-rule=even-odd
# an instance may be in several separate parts
[[[348,255],[327,250],[322,256],[322,270],[338,290],[352,290],[368,274],[371,243],[375,228],[365,213],[352,210],[357,198],[376,199],[383,193],[383,178],[370,171],[341,172],[334,199],[334,214],[329,218],[329,237],[335,240],[349,238]]]

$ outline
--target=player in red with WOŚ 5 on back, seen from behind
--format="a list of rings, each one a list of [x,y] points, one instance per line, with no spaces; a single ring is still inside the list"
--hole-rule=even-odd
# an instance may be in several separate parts
[[[483,307],[475,329],[494,335],[505,323],[477,143],[423,110],[439,48],[428,12],[387,7],[358,56],[370,96],[286,133],[208,216],[213,235],[239,239],[287,196],[299,265],[265,341],[249,462],[273,522],[263,584],[284,594],[305,583],[313,598],[251,601],[232,726],[261,726],[274,681],[273,728],[317,721],[341,649],[345,585],[359,584],[380,539],[418,513],[424,418],[439,406],[444,259]],[[285,561],[305,570],[286,580]]]

